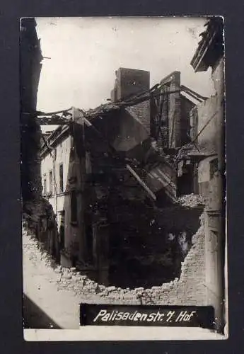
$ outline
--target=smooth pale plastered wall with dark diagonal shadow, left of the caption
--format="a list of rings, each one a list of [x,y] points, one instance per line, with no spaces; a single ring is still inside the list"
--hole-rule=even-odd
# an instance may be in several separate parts
[[[29,328],[79,327],[79,307],[81,301],[75,292],[59,292],[60,282],[65,282],[60,273],[51,267],[51,262],[37,246],[37,241],[23,232],[23,270],[24,270],[24,317]],[[61,280],[62,278],[62,280]],[[68,281],[68,280],[66,280]],[[77,281],[77,280],[76,280]],[[38,304],[42,312],[33,311],[30,303]],[[30,313],[29,314],[29,311]],[[76,314],[76,316],[74,316]],[[45,317],[47,316],[47,317]]]

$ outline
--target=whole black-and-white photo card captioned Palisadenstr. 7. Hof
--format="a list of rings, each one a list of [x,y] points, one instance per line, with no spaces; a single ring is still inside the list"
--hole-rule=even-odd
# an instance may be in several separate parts
[[[224,87],[221,16],[21,18],[25,340],[228,338]]]

